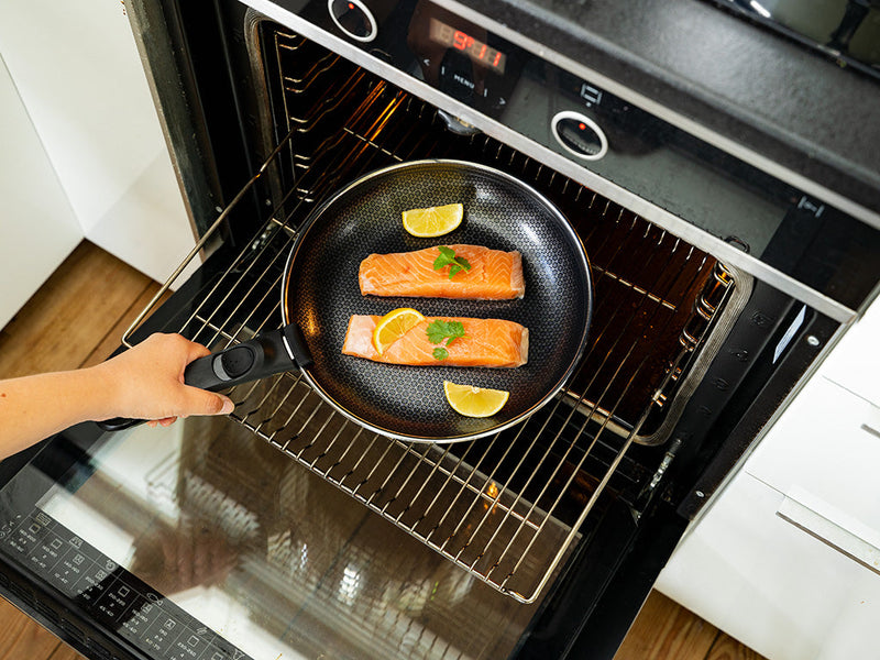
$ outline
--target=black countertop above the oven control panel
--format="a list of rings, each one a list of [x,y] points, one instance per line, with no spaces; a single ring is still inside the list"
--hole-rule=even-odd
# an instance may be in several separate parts
[[[880,81],[865,73],[704,0],[459,4],[880,215]]]

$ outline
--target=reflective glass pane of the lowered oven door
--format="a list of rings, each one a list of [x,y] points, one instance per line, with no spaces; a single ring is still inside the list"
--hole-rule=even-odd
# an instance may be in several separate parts
[[[7,483],[0,552],[140,654],[496,659],[535,614],[226,418],[97,436]]]

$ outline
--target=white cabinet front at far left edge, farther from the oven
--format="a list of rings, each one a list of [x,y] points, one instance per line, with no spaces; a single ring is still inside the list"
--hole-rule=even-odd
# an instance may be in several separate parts
[[[0,58],[0,328],[79,243],[82,231]]]

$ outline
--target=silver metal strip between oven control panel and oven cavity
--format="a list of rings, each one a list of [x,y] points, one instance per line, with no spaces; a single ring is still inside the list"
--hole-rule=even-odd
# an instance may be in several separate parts
[[[688,243],[708,252],[725,264],[736,266],[741,271],[752,275],[755,278],[767,282],[768,284],[790,295],[796,300],[809,305],[825,316],[840,323],[849,323],[856,318],[857,312],[845,305],[842,305],[828,296],[825,296],[824,294],[821,294],[801,284],[793,277],[768,266],[758,258],[745,254],[734,245],[726,243],[724,240],[694,227],[690,222],[654,206],[638,195],[630,193],[629,190],[569,161],[561,154],[558,154],[546,146],[522,136],[521,134],[512,131],[503,123],[490,119],[484,114],[474,111],[470,107],[449,98],[436,88],[400,73],[398,69],[388,66],[381,59],[373,57],[369,53],[365,53],[360,47],[354,46],[320,28],[317,28],[300,16],[270,2],[268,0],[242,1],[244,4],[258,11],[263,15],[271,18],[283,25],[286,25],[290,30],[294,30],[307,38],[331,48],[332,51],[354,62],[359,66],[363,66],[365,69],[382,76],[389,82],[419,96],[429,103],[453,113],[460,120],[480,128],[487,135],[505,142],[517,151],[520,151],[544,163],[549,167],[557,169],[560,174],[563,174],[584,186],[587,186],[603,197],[606,197],[612,201],[628,208],[632,212],[646,218],[654,224],[658,224]],[[447,2],[444,4],[452,6],[454,3]],[[453,10],[457,10],[459,7],[460,6],[454,4]],[[480,21],[488,21],[479,14],[474,15],[476,15]],[[547,52],[546,50],[541,48],[539,54],[546,55]],[[880,219],[878,219],[878,226],[880,226]]]

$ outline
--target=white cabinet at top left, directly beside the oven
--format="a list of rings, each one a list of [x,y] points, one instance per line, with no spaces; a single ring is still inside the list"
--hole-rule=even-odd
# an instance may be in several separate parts
[[[164,280],[195,238],[124,3],[0,3],[0,55],[38,138],[4,139],[4,165],[42,147],[79,238]],[[22,195],[53,212],[41,186]],[[4,210],[7,222],[28,218]]]

